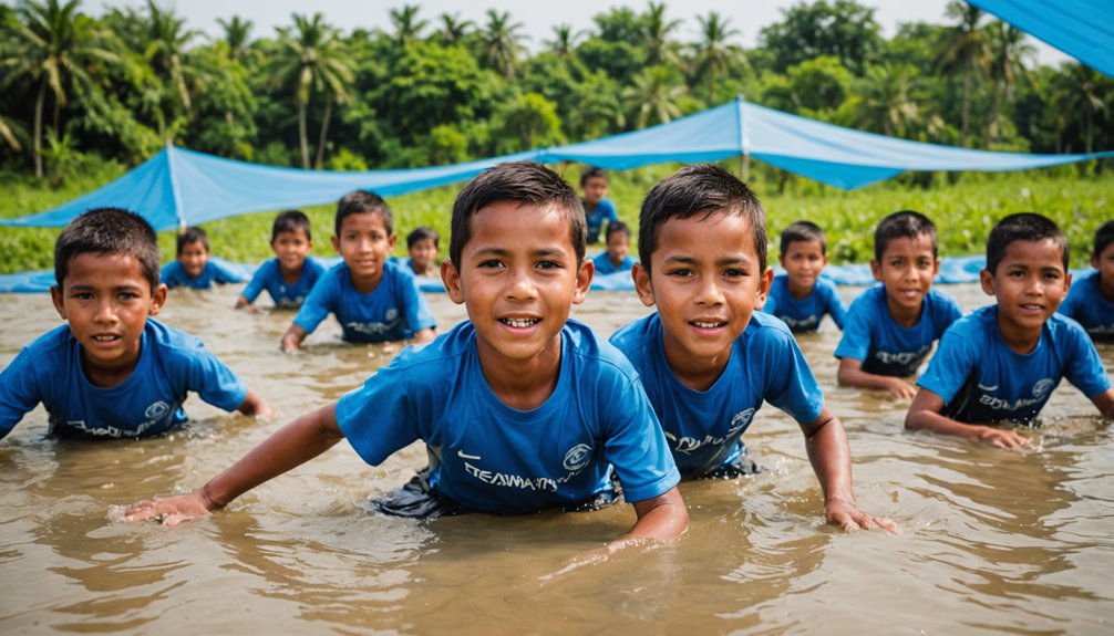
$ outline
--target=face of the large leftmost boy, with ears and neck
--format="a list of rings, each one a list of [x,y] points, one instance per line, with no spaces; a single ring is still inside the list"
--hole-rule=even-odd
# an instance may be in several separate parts
[[[81,345],[86,372],[129,370],[139,359],[139,336],[148,316],[166,300],[154,294],[139,260],[127,254],[79,254],[70,259],[61,289],[50,296]]]

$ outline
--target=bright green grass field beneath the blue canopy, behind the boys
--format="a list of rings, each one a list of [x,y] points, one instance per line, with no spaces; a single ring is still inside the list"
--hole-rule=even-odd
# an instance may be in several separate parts
[[[51,189],[29,177],[0,176],[0,218],[16,218],[43,211],[119,177],[117,163],[94,163],[60,189]],[[724,166],[737,172],[737,161]],[[677,168],[661,165],[626,172],[613,172],[609,198],[619,217],[637,232],[638,207],[646,190]],[[579,166],[555,166],[574,183]],[[1089,258],[1095,229],[1114,218],[1114,176],[1107,170],[1095,175],[1094,166],[1008,173],[962,173],[909,176],[843,191],[791,177],[758,166],[751,185],[759,192],[769,217],[771,258],[776,255],[779,232],[789,223],[808,219],[824,228],[833,264],[866,262],[872,257],[873,228],[883,216],[901,209],[925,212],[939,229],[941,256],[980,254],[986,236],[997,219],[1017,211],[1037,211],[1053,218],[1067,235],[1072,265]],[[927,181],[928,187],[915,185]],[[779,191],[782,186],[782,191]],[[399,235],[395,254],[405,255],[405,235],[420,225],[441,235],[441,256],[448,254],[449,217],[458,186],[448,186],[389,200]],[[332,256],[332,205],[315,206],[310,216],[316,240],[313,254]],[[271,222],[274,212],[244,215],[204,223],[213,254],[240,262],[260,262],[272,256]],[[53,242],[59,228],[0,227],[0,274],[53,267]],[[174,257],[174,232],[159,233],[163,260]]]

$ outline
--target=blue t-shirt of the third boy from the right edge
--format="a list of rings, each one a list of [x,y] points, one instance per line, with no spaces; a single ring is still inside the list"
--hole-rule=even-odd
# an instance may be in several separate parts
[[[886,286],[879,285],[851,302],[836,357],[860,360],[868,374],[908,377],[928,357],[932,342],[961,317],[959,305],[951,297],[930,289],[925,295],[920,319],[912,327],[903,327],[890,316]]]

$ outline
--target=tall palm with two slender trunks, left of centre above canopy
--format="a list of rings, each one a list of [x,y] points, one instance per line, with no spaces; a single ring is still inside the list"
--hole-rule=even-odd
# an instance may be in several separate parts
[[[348,86],[355,79],[353,62],[336,31],[323,22],[321,13],[306,18],[294,13],[294,29],[278,29],[278,49],[275,51],[275,81],[293,88],[297,106],[297,136],[302,149],[302,167],[310,168],[310,141],[306,136],[306,110],[310,98],[319,95],[325,100],[321,121],[316,167],[324,161],[329,120],[334,103],[351,99]]]

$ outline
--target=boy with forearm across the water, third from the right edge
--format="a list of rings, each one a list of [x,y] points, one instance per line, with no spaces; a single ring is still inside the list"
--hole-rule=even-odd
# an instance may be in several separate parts
[[[870,271],[882,285],[856,298],[847,312],[836,347],[839,384],[887,389],[898,399],[917,394],[905,378],[962,316],[955,300],[931,289],[939,270],[936,226],[928,217],[906,210],[878,223]]]

